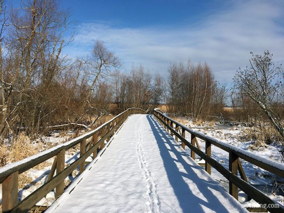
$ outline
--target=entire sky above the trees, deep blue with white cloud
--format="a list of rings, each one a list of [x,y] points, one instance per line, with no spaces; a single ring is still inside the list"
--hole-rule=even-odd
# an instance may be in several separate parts
[[[123,62],[167,74],[170,62],[207,62],[231,82],[250,52],[284,61],[284,0],[61,0],[71,11],[74,41],[64,54],[91,54],[96,39]]]

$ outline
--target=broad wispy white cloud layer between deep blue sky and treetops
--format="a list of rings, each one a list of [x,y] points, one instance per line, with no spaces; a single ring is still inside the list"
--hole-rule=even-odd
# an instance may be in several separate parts
[[[71,57],[90,54],[96,39],[114,51],[128,70],[142,64],[150,73],[167,73],[169,62],[207,62],[219,81],[231,81],[245,67],[250,51],[270,50],[284,61],[283,1],[237,1],[232,8],[209,15],[198,25],[175,28],[117,28],[107,23],[83,23],[65,49]]]

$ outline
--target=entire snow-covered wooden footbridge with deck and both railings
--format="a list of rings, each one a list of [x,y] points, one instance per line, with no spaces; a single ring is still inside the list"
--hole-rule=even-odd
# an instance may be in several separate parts
[[[80,157],[66,166],[66,150],[78,144]],[[229,170],[212,158],[212,146],[228,152]],[[205,171],[195,154],[205,161]],[[90,156],[94,160],[86,164]],[[18,202],[18,175],[50,158],[47,181]],[[238,202],[240,189],[268,211],[284,212],[248,183],[240,158],[284,178],[283,164],[189,129],[158,109],[146,114],[130,108],[78,138],[0,168],[2,211],[27,212],[55,190],[57,201],[47,212],[246,212]],[[66,187],[65,178],[78,167],[80,175]],[[211,167],[229,181],[229,193],[211,178]]]

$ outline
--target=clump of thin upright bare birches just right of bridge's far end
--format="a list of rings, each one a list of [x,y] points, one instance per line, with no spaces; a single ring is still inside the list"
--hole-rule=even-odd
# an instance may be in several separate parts
[[[207,64],[194,66],[188,61],[168,67],[168,105],[171,112],[191,115],[194,120],[210,113],[216,83]]]

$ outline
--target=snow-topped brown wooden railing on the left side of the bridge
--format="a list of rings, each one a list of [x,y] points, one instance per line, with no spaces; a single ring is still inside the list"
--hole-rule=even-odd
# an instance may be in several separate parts
[[[105,140],[109,140],[126,118],[134,113],[145,113],[145,111],[140,108],[129,108],[93,131],[0,168],[2,212],[27,212],[53,189],[55,189],[57,199],[64,191],[65,178],[78,166],[80,167],[80,173],[82,173],[85,170],[86,159],[91,154],[93,154],[94,159],[98,154],[98,148],[103,149]],[[66,150],[79,143],[80,157],[65,167]],[[18,203],[18,175],[53,157],[54,161],[46,183]],[[56,175],[54,176],[55,170]]]

